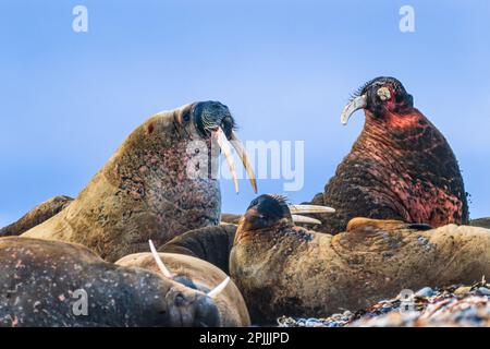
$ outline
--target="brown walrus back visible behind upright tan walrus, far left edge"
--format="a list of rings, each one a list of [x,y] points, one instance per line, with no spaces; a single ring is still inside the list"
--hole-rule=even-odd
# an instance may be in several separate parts
[[[69,196],[52,197],[34,207],[17,221],[0,229],[0,237],[20,236],[21,233],[57,215],[70,205],[72,201],[73,198]]]

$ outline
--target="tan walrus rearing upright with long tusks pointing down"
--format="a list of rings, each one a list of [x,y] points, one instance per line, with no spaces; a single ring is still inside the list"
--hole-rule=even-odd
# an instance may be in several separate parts
[[[146,251],[149,239],[161,245],[179,233],[218,225],[221,194],[215,161],[220,148],[237,190],[230,141],[257,190],[234,129],[229,108],[219,101],[155,115],[65,209],[23,236],[81,243],[114,262]]]

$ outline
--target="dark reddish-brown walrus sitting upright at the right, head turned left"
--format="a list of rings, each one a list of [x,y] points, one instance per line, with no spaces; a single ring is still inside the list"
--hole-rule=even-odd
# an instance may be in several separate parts
[[[364,109],[363,132],[311,204],[335,207],[317,216],[315,231],[344,231],[354,217],[441,227],[468,224],[467,193],[456,157],[442,133],[416,108],[402,83],[377,77],[342,111],[346,124]]]

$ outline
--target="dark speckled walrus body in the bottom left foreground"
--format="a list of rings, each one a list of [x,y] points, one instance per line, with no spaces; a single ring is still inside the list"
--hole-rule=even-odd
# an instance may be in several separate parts
[[[0,239],[0,326],[216,326],[200,291],[59,241]],[[87,292],[87,315],[75,302]],[[76,306],[76,309],[79,309]]]

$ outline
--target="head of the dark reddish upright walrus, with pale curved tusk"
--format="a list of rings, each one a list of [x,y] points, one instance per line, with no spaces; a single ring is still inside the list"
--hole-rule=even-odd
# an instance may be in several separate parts
[[[403,115],[414,107],[414,98],[402,83],[394,77],[376,77],[354,93],[350,103],[342,111],[341,121],[348,122],[351,116],[359,109],[365,109],[366,117],[382,119],[388,115]]]

